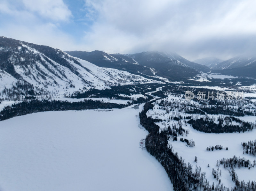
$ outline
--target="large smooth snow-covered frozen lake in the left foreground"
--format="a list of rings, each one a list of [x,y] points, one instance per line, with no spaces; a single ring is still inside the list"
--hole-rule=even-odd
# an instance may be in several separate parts
[[[58,111],[0,122],[0,190],[173,190],[139,147],[139,108]],[[114,116],[114,118],[113,118]]]

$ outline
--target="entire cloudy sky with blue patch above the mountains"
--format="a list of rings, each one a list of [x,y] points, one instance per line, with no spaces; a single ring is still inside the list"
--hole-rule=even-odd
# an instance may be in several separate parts
[[[0,0],[0,36],[62,50],[256,52],[255,0]]]

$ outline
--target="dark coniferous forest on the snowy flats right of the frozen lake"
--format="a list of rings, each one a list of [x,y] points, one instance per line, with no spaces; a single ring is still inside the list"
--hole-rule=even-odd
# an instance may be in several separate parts
[[[168,93],[172,94],[172,98],[168,98]],[[187,124],[191,124],[191,126],[199,131],[205,132],[205,133],[227,133],[227,132],[245,132],[245,131],[251,131],[254,129],[255,125],[249,122],[242,121],[234,116],[241,116],[243,115],[246,109],[239,109],[236,110],[232,107],[230,107],[231,104],[227,105],[225,102],[226,100],[222,101],[208,101],[207,104],[204,105],[204,103],[207,100],[194,100],[200,103],[200,105],[192,104],[188,101],[180,100],[181,94],[180,92],[184,92],[183,88],[170,88],[170,87],[163,87],[162,91],[160,93],[155,93],[154,95],[157,95],[158,97],[161,97],[159,99],[155,99],[154,101],[148,102],[144,105],[143,110],[140,112],[140,124],[148,131],[148,136],[145,139],[145,147],[147,151],[154,156],[164,167],[166,173],[168,174],[175,191],[187,191],[187,190],[216,190],[216,191],[229,191],[230,189],[228,187],[225,187],[221,184],[221,181],[219,181],[218,185],[214,185],[214,183],[210,183],[207,181],[205,177],[205,172],[201,172],[201,167],[196,167],[195,171],[192,169],[192,165],[190,163],[186,164],[184,162],[184,159],[182,157],[179,158],[178,153],[174,152],[172,148],[172,143],[169,142],[169,140],[172,139],[172,141],[177,141],[177,136],[183,136],[186,133],[189,133],[188,130],[183,131],[181,128],[176,128],[177,124],[182,124],[181,121],[187,126]],[[175,99],[177,97],[177,99]],[[184,98],[183,98],[184,99]],[[171,101],[170,101],[171,100]],[[244,100],[246,102],[246,100]],[[209,112],[210,109],[204,110],[203,108],[206,108],[205,106],[209,105],[209,102],[213,105],[220,102],[222,106],[230,107],[230,112],[234,114],[224,116],[225,114],[228,114],[228,111],[223,110],[224,107],[220,105],[219,110],[216,111],[216,113],[221,114],[219,118],[217,119],[218,123],[216,124],[216,119],[214,117],[209,117],[204,112]],[[224,104],[223,104],[224,102]],[[234,103],[235,106],[235,103]],[[187,116],[189,112],[189,108],[197,109],[199,112],[196,112],[196,114],[193,114],[191,112],[190,116]],[[148,111],[151,111],[147,114]],[[152,112],[153,111],[153,112]],[[178,112],[177,112],[178,111]],[[191,110],[190,110],[191,111]],[[201,112],[204,111],[204,112]],[[239,112],[238,115],[235,113]],[[165,114],[164,114],[165,113]],[[211,112],[209,112],[211,113]],[[241,113],[241,114],[240,114]],[[159,119],[159,114],[163,115],[165,119]],[[182,115],[187,116],[184,117]],[[204,115],[202,118],[198,118],[199,114]],[[167,115],[167,118],[166,118]],[[150,117],[151,116],[151,117]],[[153,117],[156,116],[157,118]],[[168,126],[166,125],[169,121],[177,121],[176,123],[172,123],[174,126]],[[165,124],[164,129],[160,130],[160,127],[157,123]],[[181,142],[186,142],[187,146],[195,145],[195,142],[190,142],[186,138],[180,138]],[[192,144],[193,143],[193,144]],[[252,150],[254,149],[253,142],[243,143],[244,152],[252,154]],[[246,150],[246,148],[248,148]],[[214,150],[228,150],[228,147],[223,148],[222,145],[215,145],[207,147],[207,151],[214,151]],[[253,152],[254,153],[254,152]],[[194,162],[197,161],[197,157],[195,157]],[[244,182],[244,180],[239,181],[239,178],[237,177],[235,170],[233,169],[234,166],[232,164],[240,166],[244,166],[247,168],[253,168],[255,164],[251,163],[248,160],[245,160],[244,158],[234,158],[234,159],[221,159],[217,161],[217,166],[221,164],[225,164],[226,166],[229,165],[230,167],[230,179],[235,183],[235,187],[232,188],[233,191],[255,191],[256,190],[256,184],[254,181]],[[255,161],[254,161],[255,163]],[[209,167],[209,165],[208,165]],[[219,171],[219,168],[215,170],[213,168],[212,170],[213,176],[220,180],[221,171]],[[242,178],[241,178],[242,179]]]

